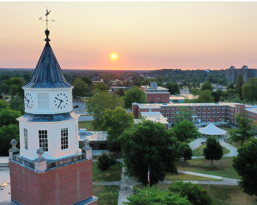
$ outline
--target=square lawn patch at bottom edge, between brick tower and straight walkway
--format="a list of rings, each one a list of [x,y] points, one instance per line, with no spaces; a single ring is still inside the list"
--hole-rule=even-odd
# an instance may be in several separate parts
[[[98,205],[118,204],[118,188],[120,187],[116,185],[93,185],[93,195],[98,197]]]

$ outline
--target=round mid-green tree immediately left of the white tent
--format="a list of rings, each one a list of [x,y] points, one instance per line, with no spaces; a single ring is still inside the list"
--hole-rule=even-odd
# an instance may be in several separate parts
[[[193,139],[200,137],[198,129],[187,119],[180,121],[179,124],[176,124],[172,129],[175,132],[177,139],[181,142],[189,142],[188,138]]]

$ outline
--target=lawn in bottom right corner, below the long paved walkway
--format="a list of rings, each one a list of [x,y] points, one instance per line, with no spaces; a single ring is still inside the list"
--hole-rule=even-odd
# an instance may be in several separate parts
[[[215,205],[256,205],[256,197],[249,196],[243,193],[243,189],[237,185],[209,185],[199,184],[201,187],[208,191],[208,194],[213,199]],[[155,188],[159,187],[162,191],[166,190],[168,184],[157,184]],[[136,185],[140,189],[144,189],[143,185]]]

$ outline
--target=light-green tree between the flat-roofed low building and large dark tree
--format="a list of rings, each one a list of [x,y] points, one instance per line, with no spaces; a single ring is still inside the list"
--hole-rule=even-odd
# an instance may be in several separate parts
[[[114,110],[106,109],[103,116],[103,127],[107,130],[107,142],[110,149],[116,150],[120,148],[117,138],[122,132],[130,128],[134,123],[134,115],[127,113],[124,108],[116,107]]]

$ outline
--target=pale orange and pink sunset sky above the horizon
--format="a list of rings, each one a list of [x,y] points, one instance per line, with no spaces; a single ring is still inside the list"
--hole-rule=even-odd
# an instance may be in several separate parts
[[[257,68],[257,2],[0,2],[1,68],[35,68],[47,6],[62,69]]]

